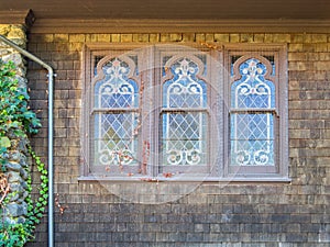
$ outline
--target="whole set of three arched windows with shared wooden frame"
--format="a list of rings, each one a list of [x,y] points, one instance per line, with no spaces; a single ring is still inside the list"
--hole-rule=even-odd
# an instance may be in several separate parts
[[[87,46],[81,179],[287,181],[285,50]]]

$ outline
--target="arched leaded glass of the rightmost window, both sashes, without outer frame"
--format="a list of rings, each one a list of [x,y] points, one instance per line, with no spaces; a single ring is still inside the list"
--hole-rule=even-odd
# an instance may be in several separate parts
[[[272,71],[257,58],[238,66],[240,79],[231,86],[231,165],[274,166],[275,85],[265,78]]]

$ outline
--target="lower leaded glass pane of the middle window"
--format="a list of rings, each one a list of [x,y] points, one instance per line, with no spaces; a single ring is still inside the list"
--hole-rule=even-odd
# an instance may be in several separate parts
[[[206,113],[163,114],[164,165],[206,162]]]

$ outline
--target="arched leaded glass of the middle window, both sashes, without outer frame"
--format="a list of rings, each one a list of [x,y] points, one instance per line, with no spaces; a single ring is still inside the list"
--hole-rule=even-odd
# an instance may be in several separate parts
[[[182,58],[169,69],[173,79],[163,86],[163,165],[206,164],[207,89],[205,81],[196,77],[202,68]]]

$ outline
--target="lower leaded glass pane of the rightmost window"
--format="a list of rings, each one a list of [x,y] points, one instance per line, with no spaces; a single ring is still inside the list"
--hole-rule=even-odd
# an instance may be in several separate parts
[[[274,165],[274,116],[231,114],[231,165]]]

